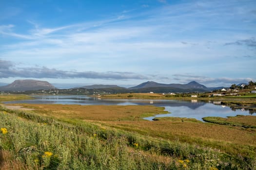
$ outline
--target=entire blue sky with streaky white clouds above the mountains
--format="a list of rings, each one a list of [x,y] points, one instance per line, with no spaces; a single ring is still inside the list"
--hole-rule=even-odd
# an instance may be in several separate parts
[[[230,86],[255,68],[256,0],[0,0],[0,83]]]

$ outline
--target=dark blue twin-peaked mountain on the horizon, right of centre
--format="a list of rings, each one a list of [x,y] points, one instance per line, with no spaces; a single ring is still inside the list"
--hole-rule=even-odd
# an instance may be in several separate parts
[[[157,82],[145,82],[140,85],[130,87],[129,89],[142,89],[142,88],[156,88],[156,87],[165,87],[165,88],[178,88],[178,89],[200,89],[200,91],[207,91],[208,88],[204,85],[201,85],[195,81],[188,84],[160,84]],[[177,90],[176,90],[177,91]],[[183,90],[182,90],[183,91]]]

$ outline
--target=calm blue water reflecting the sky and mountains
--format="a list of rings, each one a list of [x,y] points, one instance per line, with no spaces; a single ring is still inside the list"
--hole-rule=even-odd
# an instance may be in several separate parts
[[[156,115],[155,117],[180,117],[202,120],[203,117],[227,117],[236,115],[256,115],[243,108],[234,109],[220,105],[220,102],[174,101],[174,100],[109,100],[87,96],[33,96],[33,100],[12,101],[7,103],[32,104],[80,104],[80,105],[154,105],[165,107],[170,114]],[[152,120],[155,117],[145,118]]]

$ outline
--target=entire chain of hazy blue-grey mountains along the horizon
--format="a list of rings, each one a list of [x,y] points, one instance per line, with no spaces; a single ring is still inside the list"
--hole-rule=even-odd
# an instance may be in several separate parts
[[[46,81],[38,80],[15,80],[9,85],[0,86],[1,91],[29,91],[29,90],[48,90],[55,89],[54,85]],[[205,92],[214,89],[221,89],[223,87],[206,87],[195,81],[188,84],[161,84],[153,81],[148,81],[141,83],[139,85],[125,88],[118,85],[86,85],[79,86],[75,88],[85,88],[85,89],[100,89],[101,91],[106,91],[110,93],[147,93],[153,91],[155,93],[167,93],[167,92]],[[74,88],[73,88],[74,89]]]

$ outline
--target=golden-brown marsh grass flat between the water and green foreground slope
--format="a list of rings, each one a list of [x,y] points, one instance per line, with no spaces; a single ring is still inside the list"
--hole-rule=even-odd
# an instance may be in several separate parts
[[[249,130],[240,127],[203,123],[183,118],[162,118],[163,120],[160,121],[140,119],[144,116],[163,113],[163,107],[138,105],[19,105],[34,108],[35,110],[31,112],[36,112],[44,116],[53,116],[58,119],[90,120],[90,122],[100,123],[104,126],[170,140],[197,142],[197,139],[200,139],[256,145],[256,129]],[[238,134],[239,137],[237,137]]]

